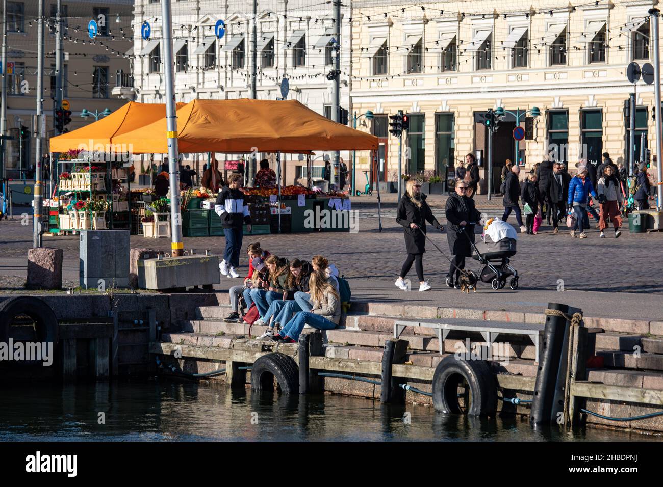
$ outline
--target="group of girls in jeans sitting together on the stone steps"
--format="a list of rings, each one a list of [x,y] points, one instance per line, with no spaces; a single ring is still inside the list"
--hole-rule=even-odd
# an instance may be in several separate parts
[[[249,274],[244,286],[230,288],[232,313],[225,321],[245,323],[240,316],[239,298],[246,309],[255,303],[260,318],[255,325],[267,325],[259,339],[295,343],[307,325],[333,329],[341,319],[339,272],[321,255],[311,262],[286,260],[263,250],[260,243],[249,245]]]

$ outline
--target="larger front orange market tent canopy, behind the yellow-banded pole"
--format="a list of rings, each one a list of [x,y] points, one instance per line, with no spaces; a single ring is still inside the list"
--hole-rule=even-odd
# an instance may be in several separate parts
[[[376,136],[332,122],[296,100],[200,100],[177,111],[178,150],[289,152],[377,149]],[[166,119],[113,137],[135,154],[166,153]]]

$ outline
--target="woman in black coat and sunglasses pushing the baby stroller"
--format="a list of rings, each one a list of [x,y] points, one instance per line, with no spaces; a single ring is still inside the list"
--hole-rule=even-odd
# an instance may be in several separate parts
[[[465,268],[465,257],[472,255],[470,241],[474,242],[474,226],[478,221],[482,223],[486,215],[477,211],[474,200],[465,196],[467,183],[462,180],[456,181],[455,194],[447,199],[444,213],[447,217],[447,239],[449,250],[453,254],[452,264],[447,274],[447,286],[460,289],[458,278],[460,270]],[[483,225],[483,223],[482,223]],[[465,227],[462,233],[457,233],[461,227]],[[455,282],[453,274],[455,273]]]

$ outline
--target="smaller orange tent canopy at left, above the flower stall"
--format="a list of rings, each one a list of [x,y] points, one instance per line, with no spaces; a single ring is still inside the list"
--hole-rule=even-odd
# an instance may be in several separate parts
[[[182,106],[184,103],[178,103],[178,107]],[[129,101],[107,117],[75,131],[51,138],[49,140],[50,152],[67,152],[70,149],[78,148],[95,150],[95,146],[99,146],[99,144],[105,148],[109,144],[117,144],[115,137],[118,135],[164,119],[164,117],[166,117],[166,105],[163,103]],[[121,150],[121,152],[127,152],[127,150]]]

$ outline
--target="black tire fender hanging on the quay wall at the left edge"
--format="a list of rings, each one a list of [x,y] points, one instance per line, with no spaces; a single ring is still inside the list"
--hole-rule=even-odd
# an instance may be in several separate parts
[[[36,340],[58,346],[59,324],[55,313],[45,301],[32,296],[19,296],[0,302],[0,341],[9,340],[9,324],[17,316],[29,316],[35,323]]]

